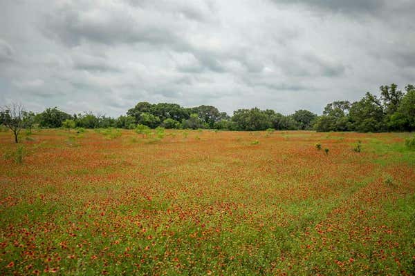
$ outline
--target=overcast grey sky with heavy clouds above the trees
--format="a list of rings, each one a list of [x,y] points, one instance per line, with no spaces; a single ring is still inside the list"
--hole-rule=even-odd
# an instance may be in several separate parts
[[[283,114],[415,83],[413,0],[1,0],[0,104]]]

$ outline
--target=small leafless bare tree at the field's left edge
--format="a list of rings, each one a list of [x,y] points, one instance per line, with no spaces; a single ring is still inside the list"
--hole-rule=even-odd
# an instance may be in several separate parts
[[[25,128],[26,120],[25,115],[28,112],[24,110],[24,107],[19,103],[12,103],[8,106],[3,106],[0,111],[0,118],[3,125],[12,130],[15,135],[15,142],[19,142],[19,132],[22,128]]]

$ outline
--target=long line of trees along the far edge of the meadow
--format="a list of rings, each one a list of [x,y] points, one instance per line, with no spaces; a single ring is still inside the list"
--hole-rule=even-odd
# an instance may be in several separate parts
[[[317,130],[326,131],[413,131],[415,129],[415,87],[405,92],[392,83],[380,86],[380,97],[367,92],[360,101],[334,101],[317,116],[308,110],[282,115],[274,110],[239,109],[232,117],[214,106],[184,108],[177,103],[139,102],[118,118],[91,112],[70,115],[58,108],[47,108],[35,114],[19,105],[5,106],[0,124],[13,132],[21,128],[126,128],[138,125],[149,128],[211,128],[219,130]],[[15,134],[16,139],[17,135]]]

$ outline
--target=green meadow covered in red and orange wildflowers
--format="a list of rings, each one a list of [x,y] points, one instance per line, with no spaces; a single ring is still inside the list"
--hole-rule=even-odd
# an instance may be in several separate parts
[[[1,132],[0,275],[414,275],[407,137]]]

